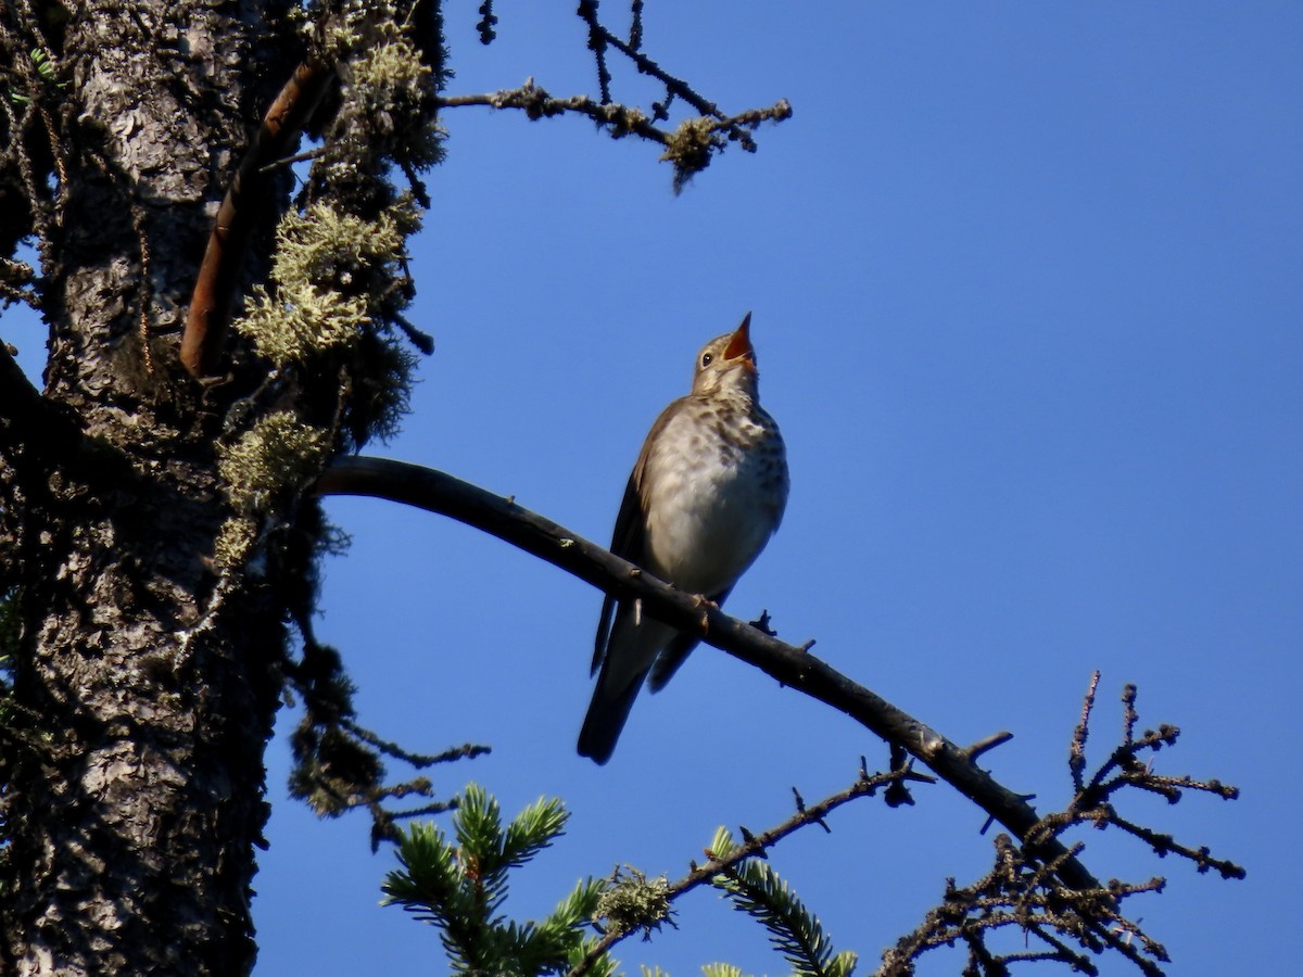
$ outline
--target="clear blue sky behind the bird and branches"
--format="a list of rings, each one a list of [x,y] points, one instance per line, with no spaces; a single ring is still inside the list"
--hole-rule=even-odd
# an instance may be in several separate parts
[[[593,91],[571,8],[499,3],[482,50],[474,5],[453,5],[451,91],[526,76]],[[1046,806],[1067,795],[1092,670],[1092,759],[1136,683],[1141,722],[1183,729],[1158,767],[1243,799],[1128,799],[1124,813],[1248,879],[1093,832],[1087,862],[1167,877],[1131,912],[1173,973],[1296,960],[1303,7],[655,0],[645,38],[726,111],[787,98],[795,117],[674,198],[648,145],[448,112],[414,262],[414,318],[438,350],[382,453],[605,542],[696,349],[753,310],[792,495],[728,610],[767,608],[782,637],[817,638],[956,741],[1012,731],[985,762]],[[645,104],[627,81],[616,68],[616,98]],[[702,647],[595,767],[575,735],[597,591],[439,517],[328,508],[353,547],[328,564],[319,633],[349,662],[361,720],[413,749],[490,743],[437,774],[446,793],[474,779],[508,813],[539,795],[573,812],[509,913],[537,916],[618,861],[678,877],[717,825],[769,826],[791,787],[813,800],[860,754],[886,763],[851,720]],[[366,823],[287,801],[283,740],[268,767],[257,973],[442,973],[435,931],[377,908],[392,858],[370,855]],[[943,786],[915,797],[843,809],[833,835],[771,855],[861,973],[946,875],[990,862],[981,812]],[[625,968],[784,970],[713,894],[679,925],[624,943]],[[938,955],[920,973],[958,967]]]

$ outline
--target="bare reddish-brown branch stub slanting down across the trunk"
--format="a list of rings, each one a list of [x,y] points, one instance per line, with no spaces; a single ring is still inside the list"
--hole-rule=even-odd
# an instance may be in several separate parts
[[[335,72],[322,61],[300,64],[263,116],[231,181],[212,221],[181,337],[181,362],[192,376],[207,376],[216,370],[245,248],[262,216],[267,185],[275,172],[267,167],[285,155],[334,78]]]

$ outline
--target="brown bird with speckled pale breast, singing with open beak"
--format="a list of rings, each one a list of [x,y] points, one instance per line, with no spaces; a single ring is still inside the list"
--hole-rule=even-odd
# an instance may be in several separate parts
[[[719,606],[765,548],[787,507],[787,449],[760,405],[751,313],[697,353],[692,392],[652,425],[615,520],[611,552]],[[597,687],[579,753],[606,763],[644,683],[659,692],[698,638],[607,594],[597,625]],[[650,675],[650,679],[648,676]]]

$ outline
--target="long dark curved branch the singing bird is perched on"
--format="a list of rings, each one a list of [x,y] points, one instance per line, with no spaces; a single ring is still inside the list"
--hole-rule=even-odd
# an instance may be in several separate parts
[[[369,495],[437,512],[481,529],[560,567],[622,599],[640,599],[646,614],[698,636],[709,645],[753,664],[783,685],[838,709],[890,744],[917,757],[992,818],[1028,842],[1036,810],[973,762],[969,750],[896,709],[800,647],[665,584],[564,526],[473,485],[434,469],[373,457],[341,457],[326,469],[318,495]],[[1072,888],[1100,882],[1057,839],[1036,840],[1037,857],[1062,860],[1059,877]]]

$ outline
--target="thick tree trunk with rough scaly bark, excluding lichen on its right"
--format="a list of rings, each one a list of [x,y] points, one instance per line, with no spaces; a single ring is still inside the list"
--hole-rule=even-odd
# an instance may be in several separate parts
[[[0,418],[25,623],[5,972],[253,965],[283,611],[205,559],[229,515],[220,410],[181,382],[176,344],[215,202],[284,81],[259,40],[283,34],[267,25],[283,10],[83,3],[60,26],[38,7],[64,98],[47,112],[59,184],[40,290],[47,404],[66,410]]]

